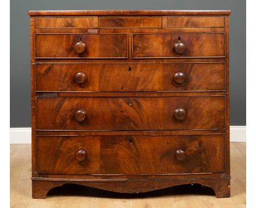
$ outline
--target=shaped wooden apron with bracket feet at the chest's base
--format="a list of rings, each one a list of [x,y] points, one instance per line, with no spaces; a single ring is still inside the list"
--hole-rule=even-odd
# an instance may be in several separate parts
[[[41,179],[33,179],[32,180],[32,188],[35,190],[32,193],[33,198],[45,199],[46,194],[51,188],[62,186],[66,183],[74,183],[78,185],[84,185],[94,188],[101,188],[107,191],[119,192],[119,193],[142,193],[142,192],[150,192],[155,191],[156,189],[163,189],[172,186],[178,185],[186,185],[199,183],[202,186],[210,187],[214,190],[217,198],[226,198],[230,197],[230,178],[222,177],[219,179],[216,178],[190,178],[179,180],[117,180],[117,181],[71,181],[71,180],[41,180]],[[42,188],[43,187],[43,188]],[[126,187],[124,189],[123,187]],[[37,193],[37,194],[36,194]],[[162,201],[162,200],[161,200]],[[190,201],[191,203],[191,201]],[[188,203],[188,205],[190,204]],[[159,204],[159,203],[158,203]],[[212,205],[207,204],[207,205]],[[104,204],[105,205],[105,204]],[[156,205],[157,206],[157,205]],[[168,207],[168,206],[167,206]]]

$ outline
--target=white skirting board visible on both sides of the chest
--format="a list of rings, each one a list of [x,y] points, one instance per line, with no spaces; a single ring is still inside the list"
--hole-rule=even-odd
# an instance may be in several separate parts
[[[230,126],[230,142],[246,142],[246,126]],[[31,128],[10,128],[10,144],[31,144]]]

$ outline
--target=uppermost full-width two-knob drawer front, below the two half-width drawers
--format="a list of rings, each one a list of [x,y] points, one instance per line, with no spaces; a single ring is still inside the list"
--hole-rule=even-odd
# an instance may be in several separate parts
[[[225,63],[36,64],[36,90],[225,90]]]

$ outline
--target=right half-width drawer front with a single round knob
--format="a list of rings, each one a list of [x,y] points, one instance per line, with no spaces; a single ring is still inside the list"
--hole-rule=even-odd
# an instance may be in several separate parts
[[[132,57],[225,57],[225,33],[132,34]]]

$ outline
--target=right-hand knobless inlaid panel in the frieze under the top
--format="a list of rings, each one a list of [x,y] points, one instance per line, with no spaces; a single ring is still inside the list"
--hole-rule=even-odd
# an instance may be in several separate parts
[[[171,16],[167,17],[167,27],[225,27],[225,17]]]

